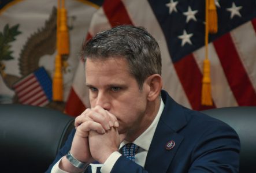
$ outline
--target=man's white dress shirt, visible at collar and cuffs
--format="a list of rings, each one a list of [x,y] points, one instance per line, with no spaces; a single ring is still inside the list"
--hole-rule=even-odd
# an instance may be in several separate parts
[[[136,153],[135,155],[135,163],[139,164],[142,167],[144,167],[145,165],[147,152],[149,151],[149,147],[153,139],[155,129],[157,128],[157,124],[163,110],[164,110],[164,101],[162,101],[161,99],[161,104],[160,104],[157,116],[155,116],[154,121],[147,128],[147,130],[145,130],[138,138],[136,138],[135,141],[133,141],[133,144],[136,144],[139,146],[138,153]],[[120,144],[119,149],[122,148],[127,143],[129,142],[123,141]],[[92,173],[96,172],[97,167],[102,167],[101,168],[102,173],[109,173],[120,156],[121,156],[121,153],[113,152],[109,156],[109,158],[107,158],[104,164],[90,164],[92,167]],[[51,173],[67,173],[66,171],[62,171],[58,167],[60,160],[53,166],[53,168],[51,169]]]

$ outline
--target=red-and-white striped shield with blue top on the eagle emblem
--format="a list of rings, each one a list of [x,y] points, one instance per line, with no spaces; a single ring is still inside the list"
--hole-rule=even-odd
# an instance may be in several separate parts
[[[43,107],[51,101],[51,78],[44,67],[16,82],[13,88],[21,104]]]

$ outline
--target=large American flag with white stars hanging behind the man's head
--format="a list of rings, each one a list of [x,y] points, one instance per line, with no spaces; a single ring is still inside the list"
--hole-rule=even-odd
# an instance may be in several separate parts
[[[215,1],[218,33],[209,36],[213,106],[202,106],[205,0],[106,0],[92,17],[90,39],[103,29],[131,24],[147,29],[162,52],[164,89],[193,110],[256,106],[256,1]],[[88,103],[79,63],[66,112],[79,115]]]

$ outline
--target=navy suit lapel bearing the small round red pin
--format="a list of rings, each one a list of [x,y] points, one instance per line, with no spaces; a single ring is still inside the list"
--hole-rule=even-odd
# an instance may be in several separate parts
[[[187,125],[183,108],[172,100],[166,92],[162,92],[162,99],[165,108],[151,141],[144,166],[149,172],[166,172],[168,170],[177,149],[183,141],[183,136],[178,134],[177,131]],[[173,148],[166,146],[169,141],[175,142]]]

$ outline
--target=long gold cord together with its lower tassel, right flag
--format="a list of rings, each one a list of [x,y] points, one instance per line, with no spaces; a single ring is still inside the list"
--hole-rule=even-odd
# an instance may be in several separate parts
[[[210,78],[210,61],[208,58],[208,37],[209,37],[209,0],[205,3],[205,60],[203,61],[203,80],[202,80],[202,98],[201,103],[205,106],[212,106],[212,89]]]

